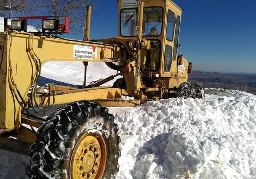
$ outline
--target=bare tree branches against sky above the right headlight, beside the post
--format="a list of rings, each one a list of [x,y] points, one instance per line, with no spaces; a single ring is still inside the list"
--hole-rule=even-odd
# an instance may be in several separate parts
[[[40,16],[68,16],[69,29],[74,34],[83,29],[86,6],[96,7],[96,0],[35,0],[34,3]]]

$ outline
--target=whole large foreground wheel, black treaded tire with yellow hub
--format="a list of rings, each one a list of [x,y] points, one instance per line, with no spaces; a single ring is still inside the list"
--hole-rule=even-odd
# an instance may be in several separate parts
[[[28,177],[30,179],[77,179],[80,177],[88,178],[88,174],[91,174],[89,178],[108,179],[115,176],[119,169],[118,157],[120,157],[121,151],[118,149],[118,144],[120,143],[120,137],[117,135],[118,126],[113,121],[114,116],[108,113],[108,109],[95,102],[78,101],[63,105],[50,114],[47,117],[47,122],[37,131],[37,140],[29,150],[31,160],[27,166]],[[105,141],[104,145],[107,151],[105,154],[101,145],[99,150],[92,147],[91,143],[90,146],[87,146],[90,140],[87,140],[87,143],[84,140],[85,143],[80,145],[81,143],[79,142],[84,137],[91,135],[94,135],[91,138],[96,142],[97,140],[99,141],[99,145],[100,143],[104,144]],[[99,139],[100,137],[101,139]],[[83,159],[81,156],[85,155],[84,153],[86,153],[87,149],[86,151],[84,150],[84,153],[82,149],[82,154],[80,155],[78,152],[81,146],[89,147],[88,151],[92,155],[86,154],[87,157],[84,157],[86,159]],[[97,155],[97,151],[101,153],[99,152]],[[83,161],[78,163],[78,168],[76,168],[75,162],[74,164],[72,163],[73,156],[79,156]],[[96,158],[98,157],[100,158],[100,167],[103,165],[105,167],[101,171],[100,167],[96,167]],[[88,165],[87,158],[88,160],[90,159],[89,161],[92,165]],[[102,162],[103,165],[101,165]],[[81,163],[83,166],[80,166]],[[77,170],[78,173],[80,172],[78,174],[79,177],[73,177],[71,168]],[[87,168],[87,171],[83,172],[85,168]]]

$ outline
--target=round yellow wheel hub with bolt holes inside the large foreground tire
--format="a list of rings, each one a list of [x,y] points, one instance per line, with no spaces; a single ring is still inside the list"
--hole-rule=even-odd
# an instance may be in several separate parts
[[[107,165],[107,142],[98,132],[79,137],[70,158],[70,179],[100,179]]]

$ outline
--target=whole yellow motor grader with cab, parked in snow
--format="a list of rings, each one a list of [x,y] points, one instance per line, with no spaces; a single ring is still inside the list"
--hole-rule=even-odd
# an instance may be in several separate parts
[[[177,53],[181,13],[171,0],[118,0],[118,37],[97,40],[89,39],[89,6],[83,40],[56,35],[68,32],[68,17],[5,18],[0,149],[30,155],[30,179],[114,178],[120,137],[106,106],[169,97],[204,99],[203,85],[187,82],[192,63]],[[29,32],[28,19],[42,19],[42,32]],[[38,88],[42,66],[49,61],[83,62],[84,85]],[[86,85],[88,62],[105,62],[117,74]],[[117,76],[112,87],[104,86]]]

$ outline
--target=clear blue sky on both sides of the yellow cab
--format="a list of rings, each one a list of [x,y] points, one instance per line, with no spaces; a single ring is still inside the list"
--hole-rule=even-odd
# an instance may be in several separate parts
[[[255,0],[173,1],[184,9],[178,53],[193,62],[194,70],[256,73]],[[117,0],[98,0],[98,4],[91,38],[117,36]]]

